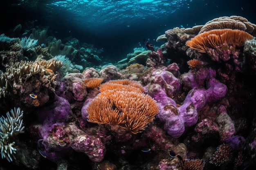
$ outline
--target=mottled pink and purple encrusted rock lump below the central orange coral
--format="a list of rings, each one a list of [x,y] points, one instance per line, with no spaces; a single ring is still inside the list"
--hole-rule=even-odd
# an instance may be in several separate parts
[[[72,149],[84,152],[94,162],[102,161],[106,153],[100,138],[86,134],[74,123],[53,124],[43,139],[38,141],[38,148],[47,159],[54,162],[68,155]]]

